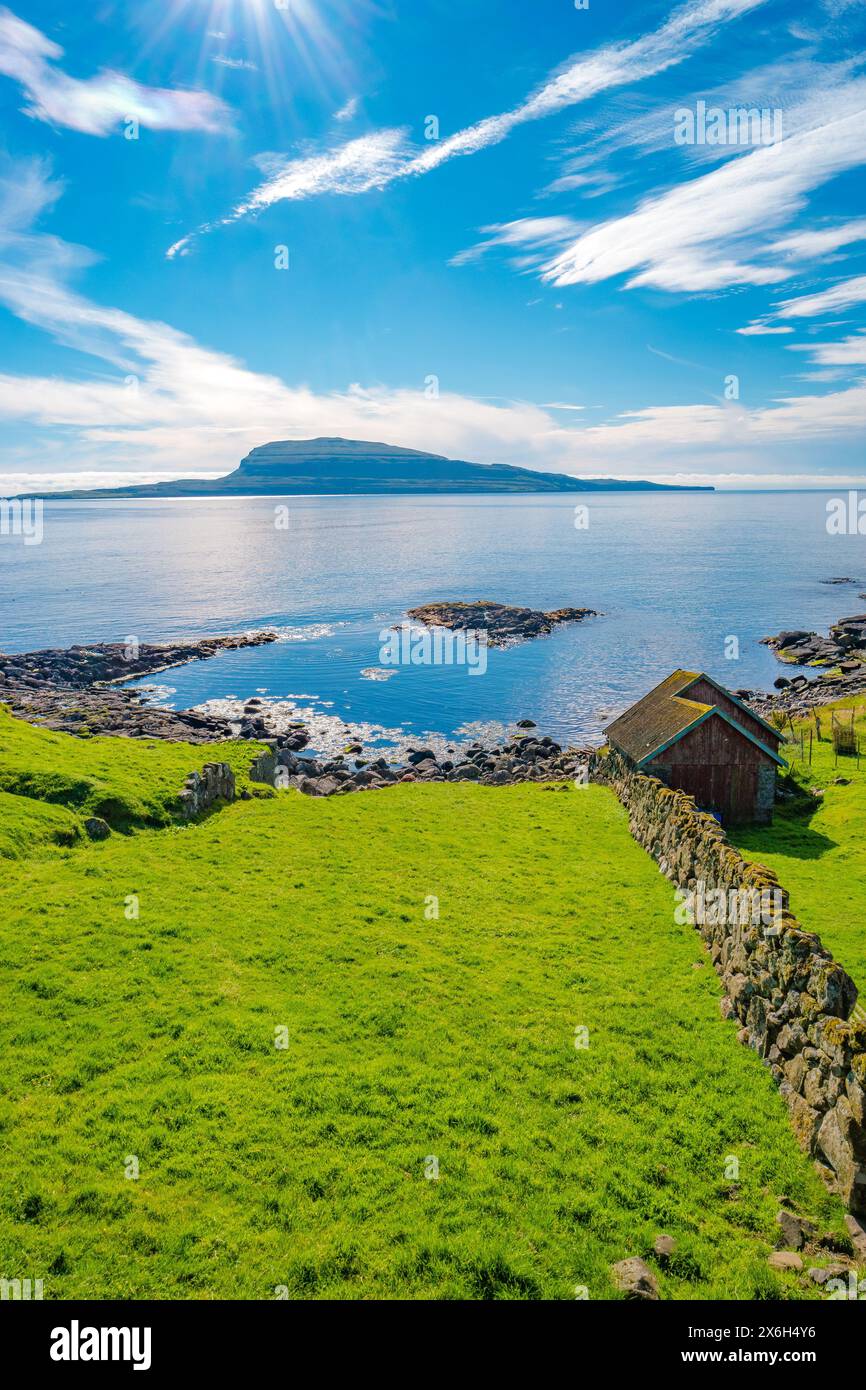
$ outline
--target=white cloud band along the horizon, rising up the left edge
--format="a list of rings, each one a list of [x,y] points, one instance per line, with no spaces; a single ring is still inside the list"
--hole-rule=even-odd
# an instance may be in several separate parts
[[[649,406],[606,423],[566,423],[580,400],[491,402],[456,392],[430,400],[423,388],[349,385],[314,392],[256,373],[170,324],[88,299],[71,285],[89,253],[35,231],[60,189],[31,161],[0,179],[0,303],[54,341],[86,352],[100,371],[82,377],[0,375],[0,420],[49,432],[46,477],[74,484],[228,471],[270,439],[345,435],[432,449],[481,463],[521,463],[589,477],[684,481],[730,468],[740,485],[776,475],[791,485],[791,446],[863,439],[866,382],[765,409],[741,403]],[[58,443],[63,464],[58,466]],[[0,459],[21,474],[14,448]],[[32,460],[32,450],[29,455]],[[179,461],[181,460],[181,461]],[[751,467],[748,467],[751,466]],[[32,461],[25,470],[33,485]],[[812,475],[810,481],[820,481]],[[47,484],[46,484],[47,486]]]

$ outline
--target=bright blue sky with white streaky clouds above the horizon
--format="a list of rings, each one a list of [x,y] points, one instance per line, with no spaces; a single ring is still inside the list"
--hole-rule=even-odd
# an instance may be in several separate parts
[[[0,489],[321,434],[862,482],[865,38],[862,0],[0,8]]]

